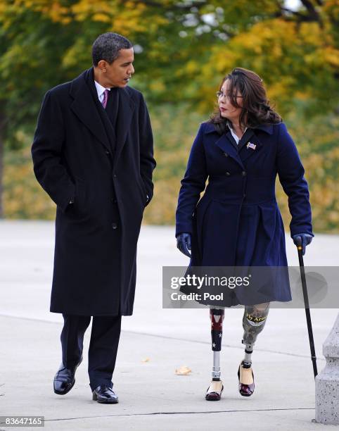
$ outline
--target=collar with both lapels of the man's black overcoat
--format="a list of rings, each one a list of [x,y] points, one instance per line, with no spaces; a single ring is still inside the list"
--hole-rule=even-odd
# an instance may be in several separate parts
[[[70,86],[70,96],[72,96],[71,109],[80,121],[91,130],[99,141],[110,151],[110,142],[105,133],[105,128],[101,121],[100,114],[96,108],[95,101],[91,95],[91,90],[87,85],[87,80],[94,80],[94,68],[84,70]],[[132,120],[135,108],[132,98],[129,96],[127,88],[119,88],[119,108],[117,119],[117,146],[115,148],[115,164],[119,157],[122,147],[126,142],[127,132]]]

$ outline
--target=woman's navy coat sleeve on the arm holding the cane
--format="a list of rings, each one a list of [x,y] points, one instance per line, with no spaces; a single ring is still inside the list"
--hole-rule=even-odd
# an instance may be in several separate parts
[[[276,156],[277,171],[283,191],[288,196],[290,208],[290,236],[298,233],[312,233],[312,213],[309,204],[309,189],[305,170],[300,161],[297,147],[290,137],[286,125],[279,125],[279,142]]]

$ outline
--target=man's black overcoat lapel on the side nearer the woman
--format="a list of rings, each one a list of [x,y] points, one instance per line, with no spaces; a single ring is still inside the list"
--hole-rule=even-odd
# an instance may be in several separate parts
[[[131,124],[133,112],[134,112],[134,102],[129,96],[127,89],[119,89],[119,108],[117,111],[117,143],[115,146],[115,158],[113,163],[113,168],[117,164],[117,160],[120,156],[122,148],[127,139],[127,133],[129,131],[129,125]]]

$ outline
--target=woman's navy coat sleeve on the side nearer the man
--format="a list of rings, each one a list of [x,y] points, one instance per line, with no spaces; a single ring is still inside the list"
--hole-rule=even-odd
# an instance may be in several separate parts
[[[203,147],[203,124],[200,125],[196,139],[194,139],[191,154],[188,158],[186,173],[181,180],[176,213],[176,232],[193,232],[193,213],[200,199],[200,193],[205,190],[207,167],[205,150]]]

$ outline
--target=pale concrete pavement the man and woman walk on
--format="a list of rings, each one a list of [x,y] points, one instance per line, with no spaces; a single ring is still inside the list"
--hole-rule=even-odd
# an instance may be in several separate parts
[[[0,238],[0,416],[44,416],[46,430],[325,429],[312,423],[314,378],[303,309],[271,309],[252,355],[256,387],[250,398],[238,394],[236,375],[243,358],[243,310],[226,310],[223,397],[205,401],[212,365],[208,313],[163,310],[161,305],[162,266],[187,264],[175,247],[172,227],[141,230],[135,311],[123,318],[113,376],[120,403],[91,401],[86,355],[90,329],[75,387],[65,396],[54,394],[62,317],[49,313],[53,223],[1,222]],[[297,265],[295,246],[288,237],[286,241],[288,261]],[[316,235],[305,264],[335,266],[338,254],[338,236]],[[320,371],[325,365],[322,343],[338,310],[311,313]],[[191,375],[175,375],[180,366],[191,368]],[[1,429],[9,428],[1,424]]]

